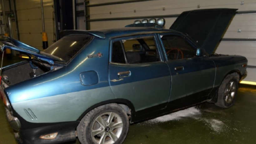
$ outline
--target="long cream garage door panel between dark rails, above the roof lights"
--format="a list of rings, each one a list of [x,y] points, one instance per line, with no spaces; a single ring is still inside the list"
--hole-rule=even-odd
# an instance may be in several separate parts
[[[255,2],[255,1],[254,1]],[[113,18],[125,16],[148,16],[148,15],[163,15],[163,14],[180,14],[183,11],[198,9],[197,5],[201,5],[201,9],[206,8],[238,8],[242,10],[252,10],[256,7],[256,3],[250,3],[248,6],[241,5],[241,1],[204,1],[204,2],[179,2],[172,1],[148,1],[126,3],[118,5],[107,5],[99,7],[90,7],[91,18]],[[141,7],[143,5],[143,7]],[[118,8],[117,8],[118,7]],[[165,11],[163,11],[165,7]],[[134,13],[134,10],[136,12]],[[110,14],[111,12],[112,14]]]

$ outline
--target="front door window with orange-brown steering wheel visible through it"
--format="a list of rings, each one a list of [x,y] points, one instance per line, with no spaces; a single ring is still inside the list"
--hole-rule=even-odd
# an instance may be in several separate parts
[[[196,48],[191,46],[185,38],[167,35],[161,39],[169,61],[196,57]]]

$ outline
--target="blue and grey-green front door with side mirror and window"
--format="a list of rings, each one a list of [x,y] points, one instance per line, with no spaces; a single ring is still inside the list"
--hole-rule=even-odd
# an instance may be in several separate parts
[[[171,107],[185,107],[207,99],[213,89],[215,64],[197,57],[193,43],[179,34],[160,35],[172,78]]]

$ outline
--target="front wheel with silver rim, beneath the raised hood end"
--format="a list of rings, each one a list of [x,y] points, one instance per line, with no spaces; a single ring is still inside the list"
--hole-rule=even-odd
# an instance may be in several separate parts
[[[238,91],[238,80],[233,75],[225,77],[218,89],[218,100],[216,106],[228,108],[234,105]]]

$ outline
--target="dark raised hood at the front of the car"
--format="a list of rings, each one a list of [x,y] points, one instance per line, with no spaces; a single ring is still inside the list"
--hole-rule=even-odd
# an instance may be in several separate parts
[[[211,54],[237,10],[219,8],[183,12],[170,29],[188,34]]]

